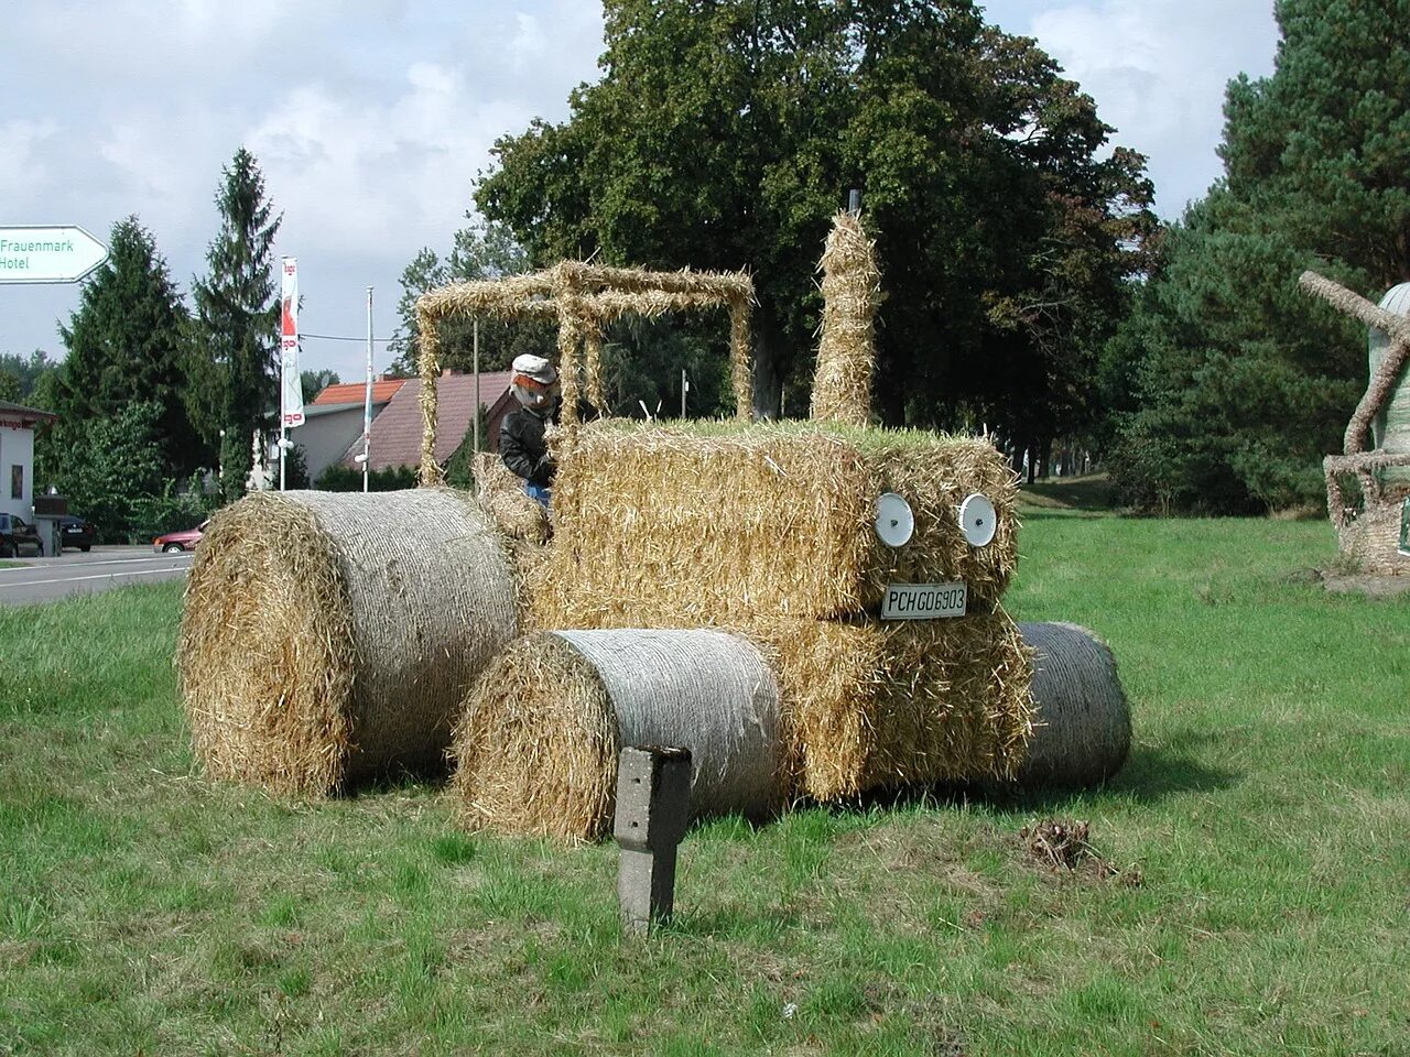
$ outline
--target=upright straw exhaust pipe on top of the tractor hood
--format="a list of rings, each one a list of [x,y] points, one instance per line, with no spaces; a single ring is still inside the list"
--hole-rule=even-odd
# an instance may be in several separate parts
[[[822,254],[822,338],[812,383],[814,421],[871,421],[873,323],[881,293],[876,244],[852,213],[832,218]]]

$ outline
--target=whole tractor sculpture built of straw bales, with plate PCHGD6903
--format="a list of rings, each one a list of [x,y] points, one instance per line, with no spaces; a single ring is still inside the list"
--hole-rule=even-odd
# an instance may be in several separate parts
[[[333,497],[286,493],[282,502],[310,507],[312,514],[300,506],[295,520],[319,523],[320,547],[341,569],[341,585],[326,576],[324,606],[365,607],[345,581],[378,576],[360,564],[376,561],[400,562],[403,586],[412,576],[427,598],[468,602],[450,630],[417,599],[399,602],[392,619],[413,629],[406,641],[422,644],[419,658],[400,662],[400,675],[381,671],[386,658],[352,619],[288,643],[279,657],[265,650],[261,662],[274,672],[258,688],[250,679],[235,686],[241,681],[230,674],[209,685],[203,664],[214,640],[238,638],[261,609],[302,613],[314,599],[286,576],[278,589],[251,591],[248,581],[274,578],[269,555],[245,562],[258,568],[237,583],[226,568],[235,562],[203,544],[179,660],[210,769],[333,792],[364,762],[385,762],[368,744],[371,734],[360,731],[388,726],[375,717],[399,707],[395,692],[372,702],[357,688],[426,679],[457,661],[458,695],[437,692],[420,705],[436,712],[434,720],[420,719],[420,748],[444,751],[450,741],[451,796],[472,829],[602,836],[618,754],[633,744],[691,750],[697,815],[766,816],[798,798],[839,801],[908,784],[1090,782],[1115,772],[1131,731],[1111,653],[1081,629],[1017,626],[1003,609],[1018,557],[1017,478],[1007,461],[987,440],[867,424],[878,273],[871,242],[850,214],[833,224],[822,289],[814,420],[805,423],[750,421],[753,288],[742,273],[570,262],[423,296],[423,452],[434,450],[443,320],[458,313],[558,320],[564,421],[553,441],[551,538],[543,544],[525,530],[503,478],[505,502],[474,500],[440,488],[429,455],[423,488],[405,493],[406,502],[454,497],[465,512],[462,536],[451,531],[439,544],[454,557],[434,569],[395,547],[368,557],[375,547],[327,516]],[[730,319],[735,423],[577,421],[580,372],[592,403],[605,403],[606,323],[629,311],[712,307],[728,309]],[[481,493],[492,499],[491,478]],[[217,519],[234,521],[240,506]],[[486,526],[494,541],[486,543]],[[240,547],[228,537],[226,550]],[[468,588],[464,576],[492,588]],[[513,603],[508,631],[505,612],[488,603],[496,592]],[[250,593],[259,598],[231,600]],[[931,619],[890,619],[919,614]],[[319,641],[341,643],[319,658],[341,672],[337,678],[300,667]],[[321,706],[344,713],[331,724],[340,726],[338,738],[320,743],[310,733],[330,726],[326,715],[317,723],[288,719],[307,705],[307,695],[299,696],[305,684],[354,688],[340,691],[343,705]],[[292,729],[306,748],[282,754],[278,767],[247,765],[264,760],[265,741]],[[317,781],[303,781],[295,757],[312,760],[313,750],[331,764]],[[279,768],[292,777],[271,782]]]

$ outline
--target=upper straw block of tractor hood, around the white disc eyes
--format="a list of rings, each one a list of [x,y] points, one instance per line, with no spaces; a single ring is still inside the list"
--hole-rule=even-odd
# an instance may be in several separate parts
[[[876,536],[883,492],[915,512],[904,547]],[[998,513],[987,547],[960,533],[956,507],[970,492]],[[874,612],[890,582],[964,581],[983,610],[1018,557],[1017,478],[991,444],[967,437],[601,421],[563,452],[553,502],[539,627],[833,619]]]

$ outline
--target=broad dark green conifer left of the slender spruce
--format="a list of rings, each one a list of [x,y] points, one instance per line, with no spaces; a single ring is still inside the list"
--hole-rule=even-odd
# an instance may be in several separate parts
[[[116,223],[107,262],[83,285],[79,310],[59,328],[68,348],[52,392],[61,476],[73,459],[104,458],[83,441],[85,431],[133,403],[155,407],[142,423],[157,461],[172,475],[195,468],[199,452],[183,404],[188,320],[151,233],[135,216]]]

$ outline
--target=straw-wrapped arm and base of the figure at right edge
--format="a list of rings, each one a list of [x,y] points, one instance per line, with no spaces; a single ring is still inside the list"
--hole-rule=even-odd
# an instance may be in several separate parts
[[[1372,423],[1390,407],[1397,385],[1410,389],[1410,382],[1403,381],[1410,364],[1410,319],[1386,311],[1317,272],[1303,272],[1299,282],[1307,293],[1386,338],[1366,393],[1347,424],[1342,454],[1323,459],[1327,513],[1337,528],[1338,548],[1362,571],[1410,575],[1410,554],[1400,551],[1402,512],[1410,497],[1410,482],[1404,478],[1410,448],[1387,444],[1385,450],[1366,451]],[[1342,482],[1348,478],[1359,483],[1359,509],[1347,500]]]

